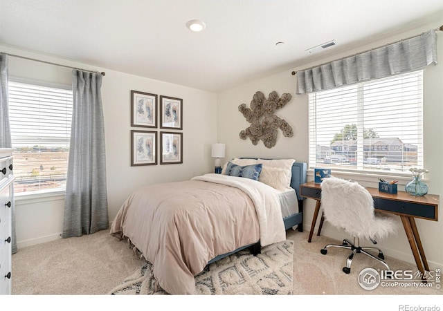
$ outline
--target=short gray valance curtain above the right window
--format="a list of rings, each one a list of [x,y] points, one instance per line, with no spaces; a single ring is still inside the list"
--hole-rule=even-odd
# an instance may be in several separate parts
[[[297,94],[311,93],[389,75],[421,70],[437,64],[437,34],[422,35],[297,71]]]

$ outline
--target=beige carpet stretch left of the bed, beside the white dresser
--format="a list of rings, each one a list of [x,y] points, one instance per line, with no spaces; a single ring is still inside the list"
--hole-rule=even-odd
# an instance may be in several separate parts
[[[107,230],[24,247],[12,254],[12,294],[106,294],[140,264]]]

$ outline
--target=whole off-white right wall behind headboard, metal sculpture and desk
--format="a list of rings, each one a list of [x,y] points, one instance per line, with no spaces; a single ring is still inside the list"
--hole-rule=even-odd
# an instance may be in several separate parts
[[[443,22],[443,20],[442,20]],[[440,25],[440,24],[439,24]],[[224,91],[219,94],[219,101],[217,107],[217,133],[219,142],[226,143],[226,158],[225,162],[230,158],[242,156],[267,157],[267,158],[295,158],[299,162],[307,162],[308,160],[308,104],[307,95],[296,95],[296,75],[291,75],[292,70],[300,70],[323,64],[341,57],[347,57],[354,53],[363,52],[371,48],[377,48],[384,44],[389,44],[394,41],[405,39],[421,32],[425,32],[435,25],[425,26],[407,32],[403,35],[380,41],[376,44],[368,46],[361,46],[355,50],[350,50],[347,53],[341,53],[321,59],[316,63],[305,64],[299,68],[292,68],[277,75],[272,75],[264,79],[250,82],[242,86]],[[438,53],[439,57],[443,57],[443,32],[437,32],[438,39]],[[428,178],[428,186],[430,194],[437,194],[443,196],[443,65],[430,65],[424,71],[424,166],[429,169],[430,173],[426,174]],[[251,141],[241,140],[239,138],[239,131],[249,126],[245,118],[238,111],[238,106],[242,103],[249,106],[252,97],[256,91],[262,91],[266,97],[271,91],[277,91],[278,95],[282,93],[291,93],[292,100],[282,109],[276,111],[276,115],[287,120],[292,126],[294,136],[293,138],[283,137],[279,131],[278,142],[272,149],[264,147],[262,142],[257,146],[253,146]],[[308,180],[312,180],[312,172],[308,173]],[[352,178],[358,180],[362,185],[367,187],[378,187],[376,178],[357,178],[356,176],[339,176],[343,178]],[[404,187],[402,184],[399,185]],[[314,200],[305,200],[305,213],[303,216],[304,229],[309,230],[311,227],[312,215],[314,213]],[[440,210],[442,207],[440,207]],[[439,218],[441,212],[439,212]],[[398,218],[398,217],[397,217]],[[397,219],[399,231],[397,236],[391,236],[385,241],[379,241],[379,246],[387,256],[400,258],[410,263],[415,263],[406,234],[401,227],[401,222]],[[422,238],[422,243],[426,252],[426,257],[431,269],[436,267],[443,267],[443,244],[440,241],[443,236],[442,220],[434,222],[431,220],[417,219],[417,227]],[[317,223],[318,225],[318,223]],[[348,238],[341,230],[331,227],[325,223],[322,234],[337,238],[341,240]],[[315,236],[314,236],[315,238]],[[320,250],[319,250],[320,251]]]

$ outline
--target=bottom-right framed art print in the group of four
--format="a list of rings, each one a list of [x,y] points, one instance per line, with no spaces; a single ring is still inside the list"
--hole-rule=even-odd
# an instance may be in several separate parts
[[[160,132],[160,164],[183,163],[183,133]]]

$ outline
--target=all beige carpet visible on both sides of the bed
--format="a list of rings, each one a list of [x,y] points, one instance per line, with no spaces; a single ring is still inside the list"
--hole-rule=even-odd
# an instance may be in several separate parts
[[[383,269],[363,254],[356,254],[352,272],[342,267],[348,251],[320,249],[336,243],[325,236],[314,236],[307,243],[308,232],[287,231],[293,241],[293,294],[296,295],[442,295],[433,288],[381,287],[364,290],[358,274],[367,267]],[[386,258],[392,270],[413,270],[415,265]],[[13,295],[105,295],[120,285],[144,262],[132,254],[125,241],[118,241],[107,230],[80,238],[67,238],[19,249],[12,255]]]

